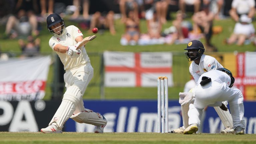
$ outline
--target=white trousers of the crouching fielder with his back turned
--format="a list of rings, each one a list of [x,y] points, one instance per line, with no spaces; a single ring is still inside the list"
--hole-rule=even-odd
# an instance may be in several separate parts
[[[195,88],[194,104],[189,105],[189,125],[196,123],[200,125],[200,118],[204,107],[222,101],[228,101],[234,129],[241,126],[245,129],[243,95],[239,89],[231,89],[226,83],[210,82],[204,86]]]

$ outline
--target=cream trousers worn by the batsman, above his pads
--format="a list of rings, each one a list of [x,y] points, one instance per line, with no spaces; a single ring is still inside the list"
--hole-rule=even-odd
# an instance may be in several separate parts
[[[66,73],[64,74],[66,89],[68,89],[70,86],[77,86],[81,91],[81,99],[77,104],[73,114],[77,114],[85,110],[82,97],[92,78],[93,68],[90,63],[82,65],[79,68],[66,71]]]

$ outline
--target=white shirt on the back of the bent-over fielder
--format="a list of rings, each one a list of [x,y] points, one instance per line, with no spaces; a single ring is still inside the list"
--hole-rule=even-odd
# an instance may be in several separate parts
[[[230,83],[231,83],[231,78],[228,74],[226,74],[225,72],[219,71],[219,70],[212,70],[209,71],[207,73],[203,73],[198,81],[201,82],[202,81],[202,77],[209,77],[211,78],[212,82],[218,82],[218,83],[226,83],[227,87],[229,87]],[[199,85],[199,84],[197,84]]]

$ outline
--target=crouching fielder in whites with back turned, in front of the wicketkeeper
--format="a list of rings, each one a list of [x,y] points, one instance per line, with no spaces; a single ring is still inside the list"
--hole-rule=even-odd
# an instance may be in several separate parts
[[[185,98],[181,105],[189,104],[195,99],[194,103],[189,104],[189,126],[184,130],[184,134],[197,132],[204,107],[220,107],[223,111],[227,111],[228,108],[222,101],[229,102],[235,133],[244,134],[244,98],[239,89],[231,88],[235,81],[232,73],[226,68],[219,68],[203,73],[199,81],[193,92],[183,93]]]

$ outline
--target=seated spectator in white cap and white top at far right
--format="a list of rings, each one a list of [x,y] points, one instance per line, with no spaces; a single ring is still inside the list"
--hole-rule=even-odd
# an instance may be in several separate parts
[[[226,40],[227,44],[243,45],[245,40],[254,37],[255,29],[251,23],[252,19],[247,15],[241,15],[240,21],[236,23],[231,36]]]

